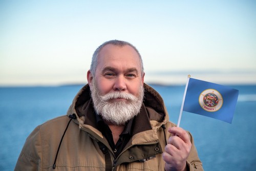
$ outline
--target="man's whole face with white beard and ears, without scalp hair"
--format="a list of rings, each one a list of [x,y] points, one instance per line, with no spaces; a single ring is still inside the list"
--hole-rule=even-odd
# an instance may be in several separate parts
[[[95,77],[88,72],[96,113],[115,125],[123,125],[139,113],[144,95],[139,57],[130,46],[122,48],[102,49]]]

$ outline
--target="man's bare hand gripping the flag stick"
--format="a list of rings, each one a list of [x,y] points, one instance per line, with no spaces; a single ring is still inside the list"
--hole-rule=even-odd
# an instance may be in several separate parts
[[[170,127],[168,132],[173,136],[168,139],[164,148],[165,170],[186,170],[186,160],[191,150],[189,136],[181,127]]]

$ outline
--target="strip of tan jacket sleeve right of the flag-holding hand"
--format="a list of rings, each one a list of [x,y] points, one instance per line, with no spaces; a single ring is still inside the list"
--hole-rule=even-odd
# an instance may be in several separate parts
[[[197,153],[197,148],[194,144],[194,139],[192,135],[188,132],[190,141],[191,141],[191,151],[189,153],[189,156],[187,158],[187,168],[190,171],[203,171],[202,162],[200,161]]]

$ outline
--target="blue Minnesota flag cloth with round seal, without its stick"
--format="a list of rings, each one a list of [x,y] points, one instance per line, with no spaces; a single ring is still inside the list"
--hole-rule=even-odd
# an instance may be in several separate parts
[[[189,78],[183,111],[231,123],[238,93],[227,86]]]

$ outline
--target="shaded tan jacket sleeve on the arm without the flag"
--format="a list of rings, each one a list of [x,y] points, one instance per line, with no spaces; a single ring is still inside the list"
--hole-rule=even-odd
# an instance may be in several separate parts
[[[41,149],[40,127],[37,126],[28,136],[14,170],[39,170]]]

